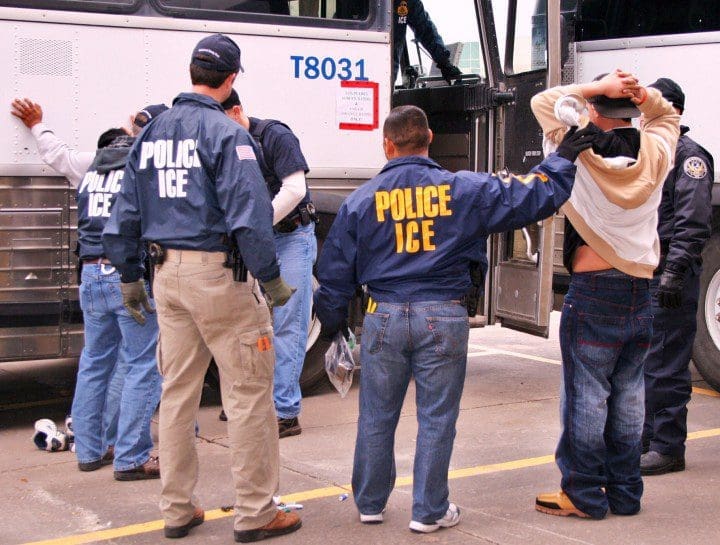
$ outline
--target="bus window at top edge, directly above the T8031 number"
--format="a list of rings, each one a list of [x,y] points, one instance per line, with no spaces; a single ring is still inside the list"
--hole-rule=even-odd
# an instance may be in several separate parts
[[[364,21],[369,0],[161,0],[159,4],[169,9],[202,10],[208,15],[245,12]]]

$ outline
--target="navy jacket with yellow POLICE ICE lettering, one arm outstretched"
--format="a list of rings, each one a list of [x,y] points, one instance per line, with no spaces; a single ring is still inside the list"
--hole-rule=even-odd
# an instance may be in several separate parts
[[[551,154],[527,176],[448,172],[426,157],[393,159],[340,207],[318,261],[315,309],[339,325],[355,287],[376,301],[448,301],[470,287],[490,233],[552,215],[575,165]]]

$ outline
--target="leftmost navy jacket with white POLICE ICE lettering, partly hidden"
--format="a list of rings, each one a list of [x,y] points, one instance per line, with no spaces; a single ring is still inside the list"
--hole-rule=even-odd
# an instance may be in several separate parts
[[[95,159],[78,186],[78,252],[81,260],[105,256],[102,232],[110,217],[110,204],[120,191],[130,136],[120,137],[97,151]]]

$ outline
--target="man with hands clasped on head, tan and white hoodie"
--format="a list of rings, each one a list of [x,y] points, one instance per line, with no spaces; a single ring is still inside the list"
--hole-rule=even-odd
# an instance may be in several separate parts
[[[554,87],[531,107],[552,152],[571,127],[597,133],[579,157],[563,262],[571,273],[560,321],[561,490],[540,494],[551,515],[603,518],[640,511],[643,362],[651,341],[650,279],[660,258],[657,207],[672,166],[679,116],[656,89],[616,70]],[[643,113],[641,131],[631,118]]]

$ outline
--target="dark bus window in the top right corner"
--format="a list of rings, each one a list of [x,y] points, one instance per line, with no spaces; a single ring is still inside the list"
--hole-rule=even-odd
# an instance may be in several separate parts
[[[576,22],[578,41],[720,30],[717,0],[586,0]]]

